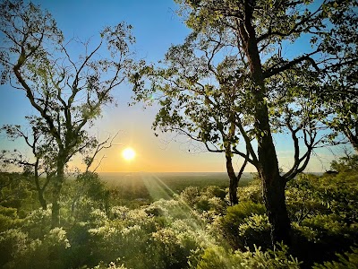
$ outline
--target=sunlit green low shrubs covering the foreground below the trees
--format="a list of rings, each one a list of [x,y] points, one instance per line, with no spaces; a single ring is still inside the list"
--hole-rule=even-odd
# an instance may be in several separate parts
[[[0,267],[356,268],[357,163],[341,159],[332,163],[337,174],[290,181],[290,247],[270,245],[259,179],[238,188],[234,206],[228,188],[187,186],[173,195],[170,185],[171,198],[125,204],[115,187],[85,173],[65,181],[61,226],[52,229],[51,204],[40,207],[31,176],[3,172]]]

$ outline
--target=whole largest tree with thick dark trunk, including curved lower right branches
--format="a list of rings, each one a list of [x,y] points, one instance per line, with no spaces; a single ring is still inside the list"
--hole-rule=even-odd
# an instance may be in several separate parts
[[[193,34],[204,36],[211,43],[217,43],[217,33],[225,32],[224,45],[232,46],[232,49],[226,51],[221,49],[220,53],[236,57],[239,63],[236,64],[235,72],[230,72],[229,78],[234,81],[231,91],[234,90],[236,94],[242,95],[240,102],[245,107],[243,115],[251,120],[244,124],[251,125],[252,130],[252,136],[245,135],[246,132],[243,132],[245,130],[241,130],[241,135],[253,160],[257,152],[255,166],[262,179],[272,242],[284,241],[289,244],[290,221],[285,202],[286,182],[303,171],[317,145],[320,128],[317,126],[317,117],[312,117],[312,113],[317,115],[319,108],[317,96],[311,88],[315,90],[321,88],[317,87],[315,81],[320,84],[329,72],[334,72],[340,66],[352,65],[357,60],[353,54],[345,54],[345,50],[349,50],[353,41],[349,38],[349,31],[354,29],[353,22],[356,20],[353,2],[323,1],[318,7],[310,1],[177,0],[176,2],[181,4],[180,13],[186,16],[186,24],[192,28]],[[350,28],[346,27],[347,24]],[[338,48],[335,44],[342,36],[346,39]],[[295,56],[285,57],[282,54],[283,45],[289,48],[300,38],[309,39],[311,46],[307,46]],[[188,83],[191,79],[195,82],[201,79],[193,76],[192,70],[187,72]],[[167,72],[172,71],[173,68],[169,66]],[[204,73],[207,70],[197,71]],[[310,75],[307,84],[304,81],[300,82],[305,71]],[[136,76],[141,74],[135,74],[134,77]],[[178,80],[172,81],[172,84],[168,84],[168,89],[165,89],[169,96],[167,100],[169,104],[172,97],[170,95],[172,91],[169,89],[175,88],[177,82]],[[294,82],[299,82],[299,86],[295,87]],[[145,83],[139,82],[136,86],[144,85]],[[302,93],[302,89],[297,92],[295,90],[305,86],[309,86],[311,90],[305,91],[304,96],[301,97],[298,93]],[[291,92],[288,98],[285,97],[287,91]],[[300,107],[297,109],[292,106],[292,101],[299,101]],[[182,104],[184,102],[187,100],[183,99]],[[279,104],[279,109],[275,108],[276,104]],[[164,107],[165,105],[166,103],[162,104]],[[162,111],[164,116],[169,116],[169,109],[162,109]],[[179,112],[172,111],[174,113],[171,117],[181,117]],[[229,108],[228,111],[233,112],[233,109]],[[286,131],[291,134],[294,144],[294,166],[285,175],[280,175],[276,147],[272,138],[272,132],[279,130],[277,126],[282,123],[285,124]],[[212,126],[209,126],[210,128]],[[301,135],[306,152],[300,155]],[[250,149],[250,146],[253,146],[251,137],[257,142],[255,151],[253,148]]]

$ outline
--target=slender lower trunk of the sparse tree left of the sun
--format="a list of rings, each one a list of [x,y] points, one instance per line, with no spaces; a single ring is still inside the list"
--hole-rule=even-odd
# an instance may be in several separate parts
[[[54,178],[54,190],[53,190],[53,202],[52,202],[52,216],[51,227],[60,226],[60,195],[64,182],[64,161],[58,161],[57,163],[57,175]]]

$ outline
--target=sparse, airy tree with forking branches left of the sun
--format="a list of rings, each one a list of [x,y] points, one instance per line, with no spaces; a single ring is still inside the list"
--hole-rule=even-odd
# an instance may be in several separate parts
[[[93,45],[79,39],[65,41],[51,14],[35,4],[5,0],[0,13],[2,83],[24,92],[41,132],[54,140],[52,225],[56,226],[64,168],[73,155],[95,147],[88,128],[101,108],[113,102],[112,91],[132,67],[132,27],[124,22],[106,27]],[[81,55],[73,53],[78,48],[83,48]]]

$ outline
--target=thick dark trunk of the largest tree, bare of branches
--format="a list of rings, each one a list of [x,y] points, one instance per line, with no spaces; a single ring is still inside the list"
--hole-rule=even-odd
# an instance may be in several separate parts
[[[279,175],[277,153],[272,140],[268,107],[265,102],[265,82],[260,62],[260,54],[256,40],[256,32],[252,26],[254,3],[245,2],[244,20],[238,21],[238,35],[242,42],[244,53],[248,59],[253,85],[251,91],[254,98],[255,129],[258,140],[259,165],[258,172],[262,178],[262,190],[268,221],[271,224],[272,244],[283,241],[290,245],[290,221],[286,210],[284,178]]]

